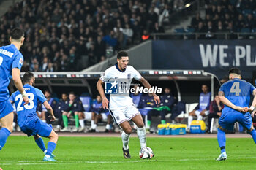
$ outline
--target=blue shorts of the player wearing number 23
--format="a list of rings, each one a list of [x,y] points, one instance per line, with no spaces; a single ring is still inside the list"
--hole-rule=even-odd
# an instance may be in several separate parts
[[[48,137],[53,127],[37,117],[37,119],[26,121],[26,124],[20,126],[20,129],[28,136],[38,134],[39,136]]]

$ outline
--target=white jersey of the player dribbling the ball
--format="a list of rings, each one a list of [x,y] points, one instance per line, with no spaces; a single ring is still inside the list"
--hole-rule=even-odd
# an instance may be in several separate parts
[[[117,64],[106,69],[105,72],[102,74],[102,77],[100,77],[103,82],[117,81],[118,87],[124,87],[125,89],[129,89],[133,78],[135,78],[135,80],[141,79],[140,73],[135,70],[133,66],[127,66],[124,72],[122,72],[118,68]],[[132,98],[129,95],[110,94],[109,107],[112,110],[124,109],[125,107],[129,107],[132,104]]]

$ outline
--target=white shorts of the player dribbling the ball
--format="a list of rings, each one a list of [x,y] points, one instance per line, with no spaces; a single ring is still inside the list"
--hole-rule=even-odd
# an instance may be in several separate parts
[[[139,110],[135,107],[134,104],[124,109],[109,109],[109,111],[110,115],[113,117],[118,125],[125,121],[131,120],[136,115],[140,115]]]

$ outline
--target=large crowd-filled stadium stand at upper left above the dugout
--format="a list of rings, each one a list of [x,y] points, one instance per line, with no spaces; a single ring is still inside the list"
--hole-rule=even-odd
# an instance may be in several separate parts
[[[23,28],[23,72],[78,71],[104,61],[106,48],[124,49],[147,40],[143,33],[164,32],[162,25],[170,23],[171,13],[183,5],[180,1],[24,0],[1,16],[1,45],[8,44],[12,28]]]

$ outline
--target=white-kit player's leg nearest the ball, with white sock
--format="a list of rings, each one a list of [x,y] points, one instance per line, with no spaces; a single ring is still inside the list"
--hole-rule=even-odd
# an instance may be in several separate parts
[[[140,148],[146,147],[146,129],[143,123],[143,118],[141,115],[136,115],[132,117],[132,121],[137,125],[137,134],[140,139]]]

